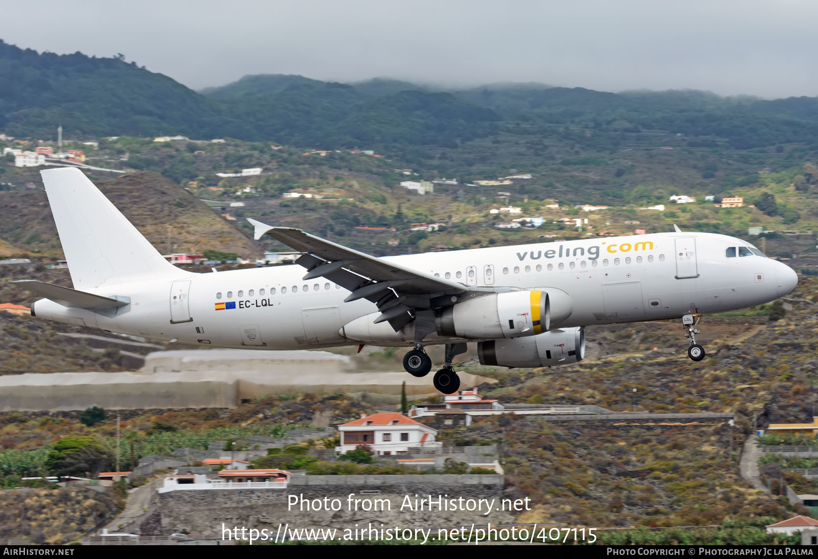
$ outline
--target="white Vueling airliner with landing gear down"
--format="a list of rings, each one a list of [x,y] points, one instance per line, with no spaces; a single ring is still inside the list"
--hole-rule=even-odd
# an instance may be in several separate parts
[[[575,363],[586,326],[681,319],[688,355],[701,315],[770,302],[796,273],[741,239],[681,232],[447,253],[373,257],[302,230],[249,220],[303,256],[291,266],[196,274],[167,262],[77,168],[42,172],[74,289],[18,283],[31,314],[202,347],[257,350],[445,344],[434,386],[460,387],[452,358],[477,342],[480,363]]]

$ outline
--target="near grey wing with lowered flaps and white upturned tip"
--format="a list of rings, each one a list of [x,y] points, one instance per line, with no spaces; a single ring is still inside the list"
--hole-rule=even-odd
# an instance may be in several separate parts
[[[418,310],[451,305],[452,298],[457,301],[456,296],[462,293],[482,291],[344,247],[294,227],[273,227],[254,219],[247,221],[254,226],[256,239],[270,235],[304,253],[296,261],[308,270],[303,279],[324,277],[352,292],[345,301],[374,302],[381,311],[375,322],[388,320],[396,331],[411,322]]]

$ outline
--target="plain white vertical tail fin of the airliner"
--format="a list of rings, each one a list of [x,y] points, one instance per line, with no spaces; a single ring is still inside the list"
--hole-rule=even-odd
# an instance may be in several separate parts
[[[79,168],[41,171],[75,289],[182,275]]]

